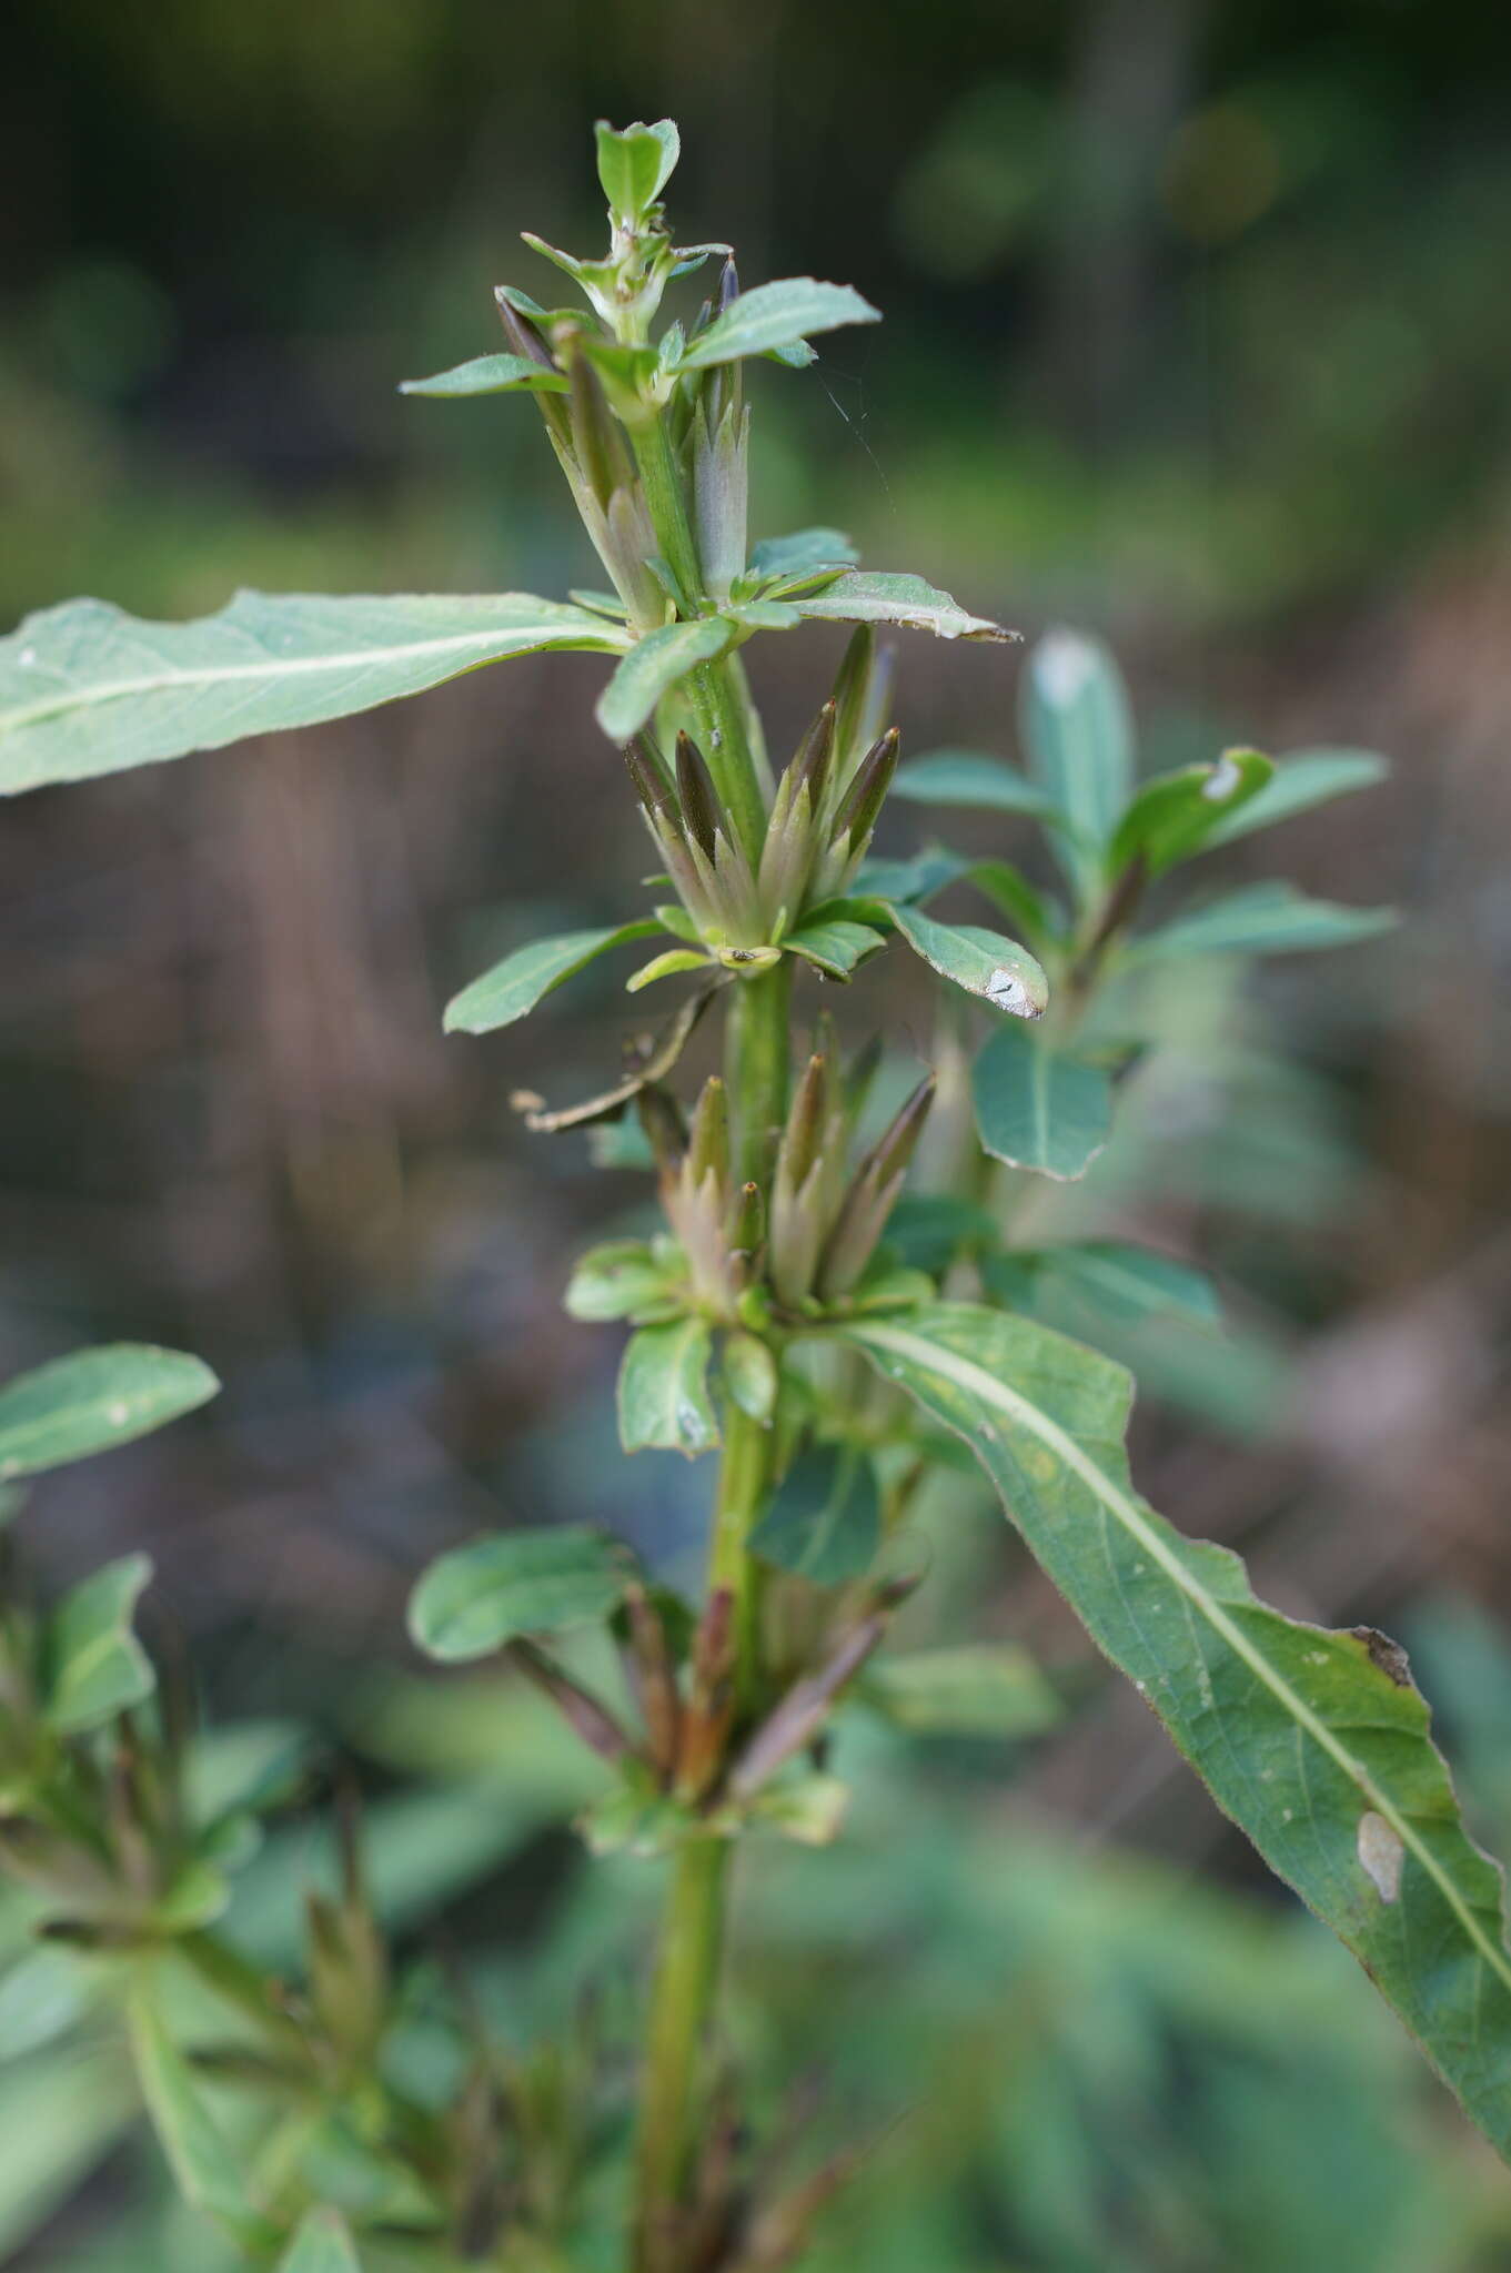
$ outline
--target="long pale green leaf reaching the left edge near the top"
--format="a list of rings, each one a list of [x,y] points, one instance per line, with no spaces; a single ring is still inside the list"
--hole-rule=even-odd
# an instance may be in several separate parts
[[[345,718],[507,655],[616,655],[625,641],[602,616],[518,591],[377,600],[241,591],[195,623],[143,623],[105,600],[66,600],[0,639],[0,793]]]

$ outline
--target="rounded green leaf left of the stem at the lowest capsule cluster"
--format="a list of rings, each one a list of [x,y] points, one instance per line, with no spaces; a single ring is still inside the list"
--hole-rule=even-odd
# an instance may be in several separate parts
[[[443,1664],[489,1657],[520,1634],[559,1634],[607,1618],[627,1577],[607,1532],[568,1523],[493,1532],[436,1557],[409,1596],[409,1634]]]

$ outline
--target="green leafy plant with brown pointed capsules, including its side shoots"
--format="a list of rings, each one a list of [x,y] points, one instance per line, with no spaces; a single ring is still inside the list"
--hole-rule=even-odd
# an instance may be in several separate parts
[[[745,366],[802,368],[811,334],[870,323],[875,309],[807,277],[741,291],[729,248],[677,248],[661,207],[675,159],[668,120],[600,127],[607,255],[575,259],[529,239],[586,307],[500,286],[507,352],[409,389],[534,396],[611,591],[566,602],[241,593],[186,625],[145,625],[93,600],[57,607],[0,646],[0,786],[311,725],[509,655],[613,659],[598,723],[623,750],[627,798],[663,871],[654,898],[611,930],[509,955],[450,1005],[448,1027],[507,1027],[627,943],[652,948],[632,991],[682,989],[598,1096],[520,1105],[534,1130],[618,1125],[620,1155],[638,1146],[654,1168],[666,1227],[586,1255],[568,1307],[632,1327],[625,1450],[716,1457],[707,1591],[682,1600],[609,1532],[514,1530],[443,1555],[414,1593],[411,1630],[445,1662],[509,1652],[611,1764],[588,1843],[670,1857],[623,2214],[636,2273],[795,2262],[841,2175],[825,2166],[752,2187],[734,2150],[711,2050],[729,1873],[748,1834],[836,1834],[845,1793],[825,1764],[825,1727],[918,1582],[918,1484],[959,1464],[961,1446],[1218,1805],[1359,1955],[1511,2153],[1500,1873],[1463,1830],[1402,1652],[1366,1627],[1279,1616],[1234,1555],[1184,1539],[1136,1493],[1127,1373],[1043,1314],[1066,1291],[1109,1321],[1166,1305],[1207,1314],[1211,1296],[1186,1266],[1120,1241],[1034,1243],[1020,1212],[1036,1177],[1077,1177],[1107,1141],[1136,1055],[1141,973],[1177,955],[1361,939],[1386,921],[1257,884],[1143,923],[1175,868],[1363,786],[1379,764],[1229,750],[1138,782],[1111,659],[1052,634],[1025,673],[1027,773],[972,752],[898,773],[877,625],[1011,634],[918,577],[861,571],[834,530],[748,543]],[[723,266],[709,300],[657,332],[668,286],[711,261]],[[798,750],[773,766],[741,650],[804,623],[857,630]],[[938,848],[870,859],[893,786],[1034,816],[1063,893]],[[966,884],[1011,936],[929,914]],[[947,1141],[936,1125],[927,1189],[893,1216],[934,1077],[877,1125],[868,1096],[882,1052],[841,1052],[818,986],[895,950],[947,982],[941,1055],[952,1102],[970,1093],[979,1146],[963,1116],[941,1116]],[[707,1016],[723,1021],[723,1075],[688,1098],[679,1059]],[[191,1359],[161,1352],[45,1368],[0,1398],[0,1475],[98,1450],[211,1387]],[[450,2089],[425,2096],[395,2080],[404,1991],[354,1846],[341,1896],[311,1903],[300,1989],[216,1939],[225,1873],[277,1777],[211,1814],[195,1800],[182,1712],[155,1700],[130,1632],[143,1580],[130,1559],[52,1618],[7,1614],[0,1855],[34,1889],[52,1943],[89,1953],[91,1980],[125,2000],[182,2187],[250,2262],[282,2259],[291,2273],[332,2273],[357,2253],[416,2268],[588,2262],[588,2057],[568,2048],[548,2080],[520,2078],[452,2012],[466,2057]],[[632,1702],[600,1693],[564,1655],[557,1637],[593,1625],[618,1646]],[[932,1698],[936,1723],[977,1712],[963,1691],[988,1677],[988,1652],[868,1673],[873,1698],[891,1691],[911,1714]],[[193,2057],[170,1996],[184,1966],[239,2016],[232,2043],[198,2043]],[[204,2100],[207,2075],[239,2087],[229,2132]],[[625,2255],[613,2243],[591,2262]]]

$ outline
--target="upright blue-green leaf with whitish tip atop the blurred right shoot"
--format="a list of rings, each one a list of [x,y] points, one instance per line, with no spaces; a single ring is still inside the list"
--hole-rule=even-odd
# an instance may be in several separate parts
[[[1134,721],[1111,652],[1082,632],[1047,632],[1022,673],[1022,741],[1029,768],[1070,821],[1054,839],[1070,884],[1088,898],[1100,850],[1134,786]]]

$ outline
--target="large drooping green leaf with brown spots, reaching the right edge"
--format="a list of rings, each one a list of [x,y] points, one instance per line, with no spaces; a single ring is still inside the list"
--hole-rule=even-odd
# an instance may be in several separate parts
[[[848,1327],[986,1468],[1045,1573],[1218,1805],[1354,1950],[1511,2157],[1502,1877],[1470,1841],[1404,1655],[1259,1602],[1132,1489],[1132,1382],[1025,1318],[941,1302]]]

